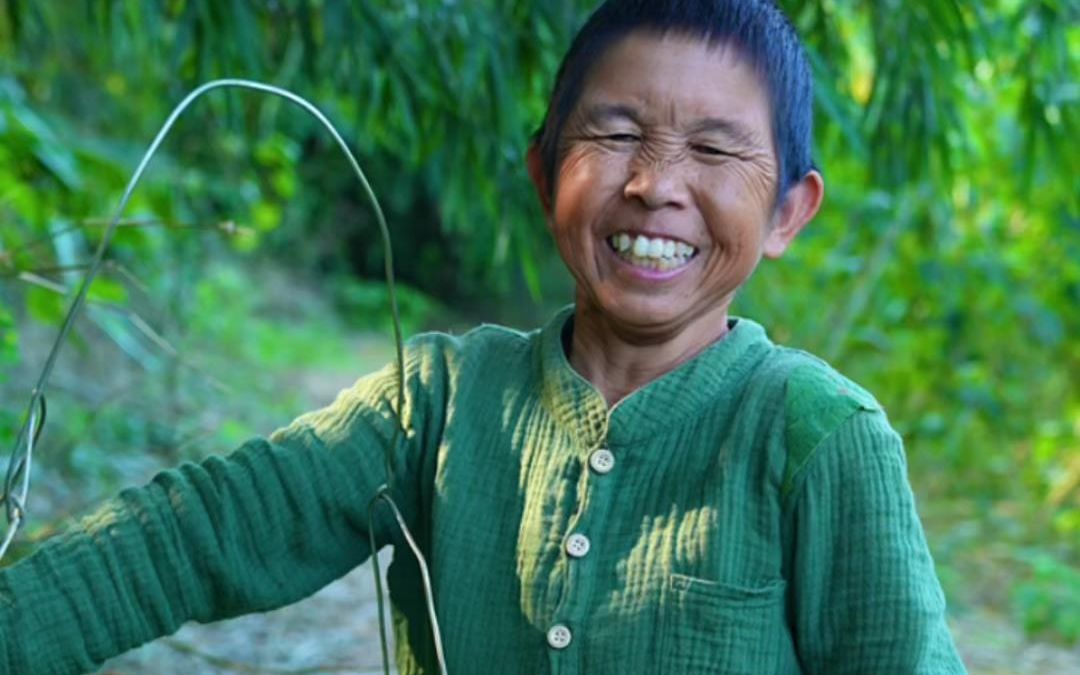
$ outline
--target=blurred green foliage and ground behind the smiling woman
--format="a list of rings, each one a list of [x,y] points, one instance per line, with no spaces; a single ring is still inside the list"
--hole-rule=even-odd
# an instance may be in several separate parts
[[[972,672],[1080,673],[1080,5],[781,4],[812,55],[827,200],[734,311],[889,410]],[[544,322],[571,286],[524,151],[593,5],[0,0],[0,450],[141,152],[214,78],[289,87],[342,132],[387,211],[407,334]],[[197,104],[57,364],[4,564],[389,361],[381,251],[308,116],[242,91]],[[287,610],[291,632],[210,626],[107,670],[374,671],[354,591]],[[330,623],[357,633],[319,643]]]

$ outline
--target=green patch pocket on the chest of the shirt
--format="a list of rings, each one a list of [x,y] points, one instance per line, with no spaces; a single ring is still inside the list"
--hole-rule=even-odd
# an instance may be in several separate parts
[[[754,586],[672,575],[660,607],[663,673],[766,675],[781,671],[783,581]]]

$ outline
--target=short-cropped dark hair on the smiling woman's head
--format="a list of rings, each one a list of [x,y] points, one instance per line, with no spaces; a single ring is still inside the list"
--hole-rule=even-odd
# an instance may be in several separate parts
[[[764,79],[772,107],[780,164],[777,202],[811,171],[813,79],[795,28],[772,0],[607,0],[563,58],[548,114],[534,143],[548,190],[554,189],[559,137],[590,69],[616,42],[634,31],[678,32],[739,50]],[[702,86],[708,86],[702,82]]]

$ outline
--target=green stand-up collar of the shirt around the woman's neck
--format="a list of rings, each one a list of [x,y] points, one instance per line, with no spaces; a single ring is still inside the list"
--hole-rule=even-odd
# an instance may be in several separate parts
[[[772,348],[765,328],[731,319],[728,334],[674,370],[632,392],[613,407],[566,357],[564,332],[573,306],[561,310],[540,334],[543,404],[576,441],[592,448],[623,444],[670,429],[710,406],[724,405],[753,366]]]

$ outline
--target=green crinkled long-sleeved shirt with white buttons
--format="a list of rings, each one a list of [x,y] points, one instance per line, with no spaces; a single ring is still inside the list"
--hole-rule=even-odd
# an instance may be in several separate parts
[[[395,501],[451,675],[962,673],[878,404],[733,322],[609,407],[539,332],[406,352]],[[0,573],[4,673],[71,673],[189,620],[303,598],[370,554],[394,368],[227,458],[125,490]],[[397,663],[435,673],[384,510]]]

